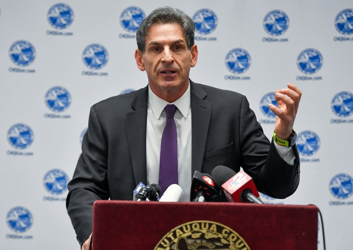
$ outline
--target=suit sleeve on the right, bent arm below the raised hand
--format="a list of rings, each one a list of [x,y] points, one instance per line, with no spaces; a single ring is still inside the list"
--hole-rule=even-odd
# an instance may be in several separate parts
[[[262,127],[243,96],[240,110],[241,166],[256,184],[258,191],[284,199],[294,193],[299,184],[300,163],[297,146],[294,165],[283,160],[274,145],[264,135]]]

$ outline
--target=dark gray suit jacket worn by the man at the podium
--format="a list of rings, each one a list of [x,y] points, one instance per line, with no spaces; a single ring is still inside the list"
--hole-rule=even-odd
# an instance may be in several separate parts
[[[224,165],[240,166],[258,191],[276,198],[294,193],[299,184],[299,155],[288,165],[263,134],[245,96],[191,82],[192,173],[211,173]],[[92,232],[95,200],[132,200],[146,183],[148,87],[103,100],[91,107],[66,207],[77,236]],[[192,178],[192,176],[190,176]],[[224,196],[220,200],[225,201]]]

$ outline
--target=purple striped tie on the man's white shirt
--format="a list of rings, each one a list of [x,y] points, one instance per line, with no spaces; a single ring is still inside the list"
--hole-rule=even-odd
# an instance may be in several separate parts
[[[159,181],[162,194],[172,184],[178,184],[178,136],[174,122],[177,107],[166,106],[167,122],[161,140],[161,159],[159,164]]]

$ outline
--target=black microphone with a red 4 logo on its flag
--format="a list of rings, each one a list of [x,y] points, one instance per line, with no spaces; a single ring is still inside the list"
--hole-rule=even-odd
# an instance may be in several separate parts
[[[221,189],[216,186],[212,177],[195,170],[191,183],[190,201],[211,201],[219,195],[221,195]]]

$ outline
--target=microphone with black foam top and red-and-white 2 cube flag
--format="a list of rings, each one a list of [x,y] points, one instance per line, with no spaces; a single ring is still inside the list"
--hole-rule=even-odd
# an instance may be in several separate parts
[[[260,199],[253,179],[244,171],[236,173],[226,166],[212,170],[215,183],[225,193],[229,202],[252,202],[264,204]]]

